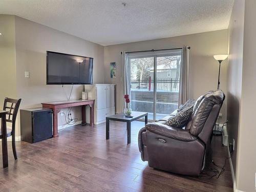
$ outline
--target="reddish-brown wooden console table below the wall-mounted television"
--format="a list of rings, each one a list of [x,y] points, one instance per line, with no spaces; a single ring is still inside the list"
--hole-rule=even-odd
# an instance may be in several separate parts
[[[72,106],[82,106],[82,124],[86,124],[86,105],[90,106],[90,125],[94,124],[94,100],[71,100],[41,103],[42,108],[52,109],[53,112],[53,137],[58,137],[58,113],[62,108],[70,108]]]

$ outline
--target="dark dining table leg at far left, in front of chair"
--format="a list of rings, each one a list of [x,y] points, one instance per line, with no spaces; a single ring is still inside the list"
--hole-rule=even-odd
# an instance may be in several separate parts
[[[8,150],[7,150],[7,136],[6,136],[6,114],[2,117],[2,153],[3,153],[3,167],[8,167]]]

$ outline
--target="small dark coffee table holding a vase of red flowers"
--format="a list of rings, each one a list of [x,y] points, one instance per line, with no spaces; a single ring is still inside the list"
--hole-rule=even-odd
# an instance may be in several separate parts
[[[116,115],[106,117],[106,139],[110,138],[110,120],[122,121],[122,122],[126,122],[127,144],[131,143],[131,122],[139,118],[145,117],[145,124],[147,124],[147,113],[134,111],[132,112],[132,116],[133,116],[132,118],[129,118],[129,117],[125,117],[124,113],[118,113]]]

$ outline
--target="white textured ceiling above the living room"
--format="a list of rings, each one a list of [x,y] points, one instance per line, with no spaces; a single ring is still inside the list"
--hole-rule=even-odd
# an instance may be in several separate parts
[[[232,6],[233,0],[0,0],[0,14],[106,46],[227,29]]]

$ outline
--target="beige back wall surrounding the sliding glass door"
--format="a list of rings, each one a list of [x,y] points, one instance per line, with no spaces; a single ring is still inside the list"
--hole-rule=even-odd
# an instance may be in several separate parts
[[[104,47],[105,83],[117,84],[117,112],[122,111],[122,55],[121,51],[181,48],[190,46],[189,97],[197,99],[208,90],[217,89],[218,61],[216,54],[227,54],[227,30],[212,31],[156,40],[132,42]],[[110,78],[110,62],[117,63],[117,78]],[[221,89],[226,93],[227,61],[221,67]],[[221,122],[226,120],[226,101]]]

